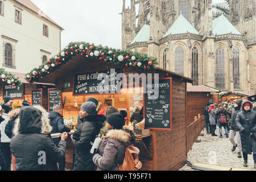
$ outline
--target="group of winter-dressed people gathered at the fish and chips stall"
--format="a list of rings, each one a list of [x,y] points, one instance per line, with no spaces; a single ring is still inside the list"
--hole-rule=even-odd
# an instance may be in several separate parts
[[[10,171],[65,170],[65,152],[70,129],[64,125],[61,107],[49,113],[42,106],[22,102],[12,109],[13,98],[3,97],[0,105],[0,168]],[[77,130],[71,135],[74,171],[118,170],[126,147],[133,144],[133,131],[123,129],[127,113],[90,97],[80,107]],[[51,134],[61,133],[52,138]],[[102,134],[98,150],[90,152],[94,139]],[[59,163],[59,166],[57,165]]]

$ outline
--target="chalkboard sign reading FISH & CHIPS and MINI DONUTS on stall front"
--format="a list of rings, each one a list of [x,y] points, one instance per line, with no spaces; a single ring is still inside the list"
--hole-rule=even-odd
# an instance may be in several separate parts
[[[118,73],[121,68],[75,73],[73,96],[121,93]]]

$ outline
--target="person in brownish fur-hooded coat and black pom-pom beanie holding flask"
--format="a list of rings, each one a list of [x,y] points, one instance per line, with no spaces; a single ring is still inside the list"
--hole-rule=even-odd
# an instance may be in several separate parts
[[[125,149],[134,143],[132,131],[122,130],[125,125],[126,111],[110,114],[107,118],[105,139],[102,141],[98,153],[93,156],[93,163],[97,171],[119,171],[118,165],[123,163]]]

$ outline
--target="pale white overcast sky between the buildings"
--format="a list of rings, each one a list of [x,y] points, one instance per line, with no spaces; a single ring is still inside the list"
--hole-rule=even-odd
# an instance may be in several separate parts
[[[79,41],[121,49],[122,0],[31,1],[65,29],[61,32],[61,49],[69,42]]]

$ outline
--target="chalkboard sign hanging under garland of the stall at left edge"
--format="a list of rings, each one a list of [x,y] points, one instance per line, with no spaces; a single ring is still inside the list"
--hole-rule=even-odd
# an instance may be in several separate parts
[[[23,85],[3,85],[3,96],[10,96],[14,99],[23,99]]]

